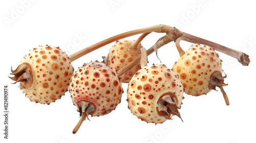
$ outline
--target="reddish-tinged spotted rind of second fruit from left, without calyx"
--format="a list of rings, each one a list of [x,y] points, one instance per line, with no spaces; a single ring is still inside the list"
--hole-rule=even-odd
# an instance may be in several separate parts
[[[71,78],[71,98],[78,111],[81,111],[81,101],[94,106],[91,116],[110,113],[121,102],[123,89],[117,74],[107,64],[95,61],[84,64],[75,71]]]

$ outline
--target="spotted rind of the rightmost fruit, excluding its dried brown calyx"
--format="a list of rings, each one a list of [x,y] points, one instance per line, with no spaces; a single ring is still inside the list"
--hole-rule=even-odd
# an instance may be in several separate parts
[[[212,88],[209,85],[212,74],[222,74],[219,55],[209,46],[191,45],[187,52],[173,66],[180,76],[185,93],[201,96]],[[214,87],[215,88],[215,87]]]

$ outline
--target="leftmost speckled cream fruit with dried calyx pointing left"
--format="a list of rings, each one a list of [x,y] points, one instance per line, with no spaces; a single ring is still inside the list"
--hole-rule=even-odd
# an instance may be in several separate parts
[[[55,46],[38,46],[29,52],[11,79],[32,102],[50,104],[68,90],[74,68],[65,52]],[[15,83],[16,83],[15,82]]]

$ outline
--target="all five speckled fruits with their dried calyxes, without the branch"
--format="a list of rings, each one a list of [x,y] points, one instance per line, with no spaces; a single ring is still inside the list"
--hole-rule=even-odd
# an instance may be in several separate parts
[[[141,54],[134,40],[117,41],[105,62],[83,64],[74,73],[70,58],[59,47],[38,46],[29,52],[10,77],[32,102],[50,104],[70,91],[82,122],[91,116],[113,111],[121,101],[122,83],[129,83],[127,103],[131,112],[147,123],[163,123],[181,118],[183,93],[201,96],[219,87],[225,102],[224,78],[218,54],[209,46],[191,45],[172,69],[165,65],[138,64],[123,75],[118,71]],[[73,74],[74,73],[74,74]]]

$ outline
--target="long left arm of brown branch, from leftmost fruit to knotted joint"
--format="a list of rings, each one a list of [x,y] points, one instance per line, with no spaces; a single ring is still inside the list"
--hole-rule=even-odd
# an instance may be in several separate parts
[[[105,39],[103,41],[100,41],[94,45],[91,45],[81,51],[78,51],[72,55],[69,56],[69,59],[71,62],[73,62],[74,60],[94,51],[94,50],[97,50],[99,49],[100,47],[106,45],[106,44],[109,44],[111,42],[114,42],[114,41],[117,41],[117,40],[120,40],[120,39],[123,39],[125,37],[130,37],[130,36],[133,36],[133,35],[137,35],[137,34],[141,34],[141,33],[150,33],[150,32],[158,32],[158,33],[167,33],[168,30],[170,29],[171,27],[169,26],[166,26],[166,25],[155,25],[155,26],[152,26],[152,27],[147,27],[147,28],[142,28],[142,29],[137,29],[137,30],[133,30],[133,31],[129,31],[129,32],[125,32],[125,33],[122,33],[122,34],[118,34],[116,36],[113,36],[113,37],[110,37],[108,39]]]

